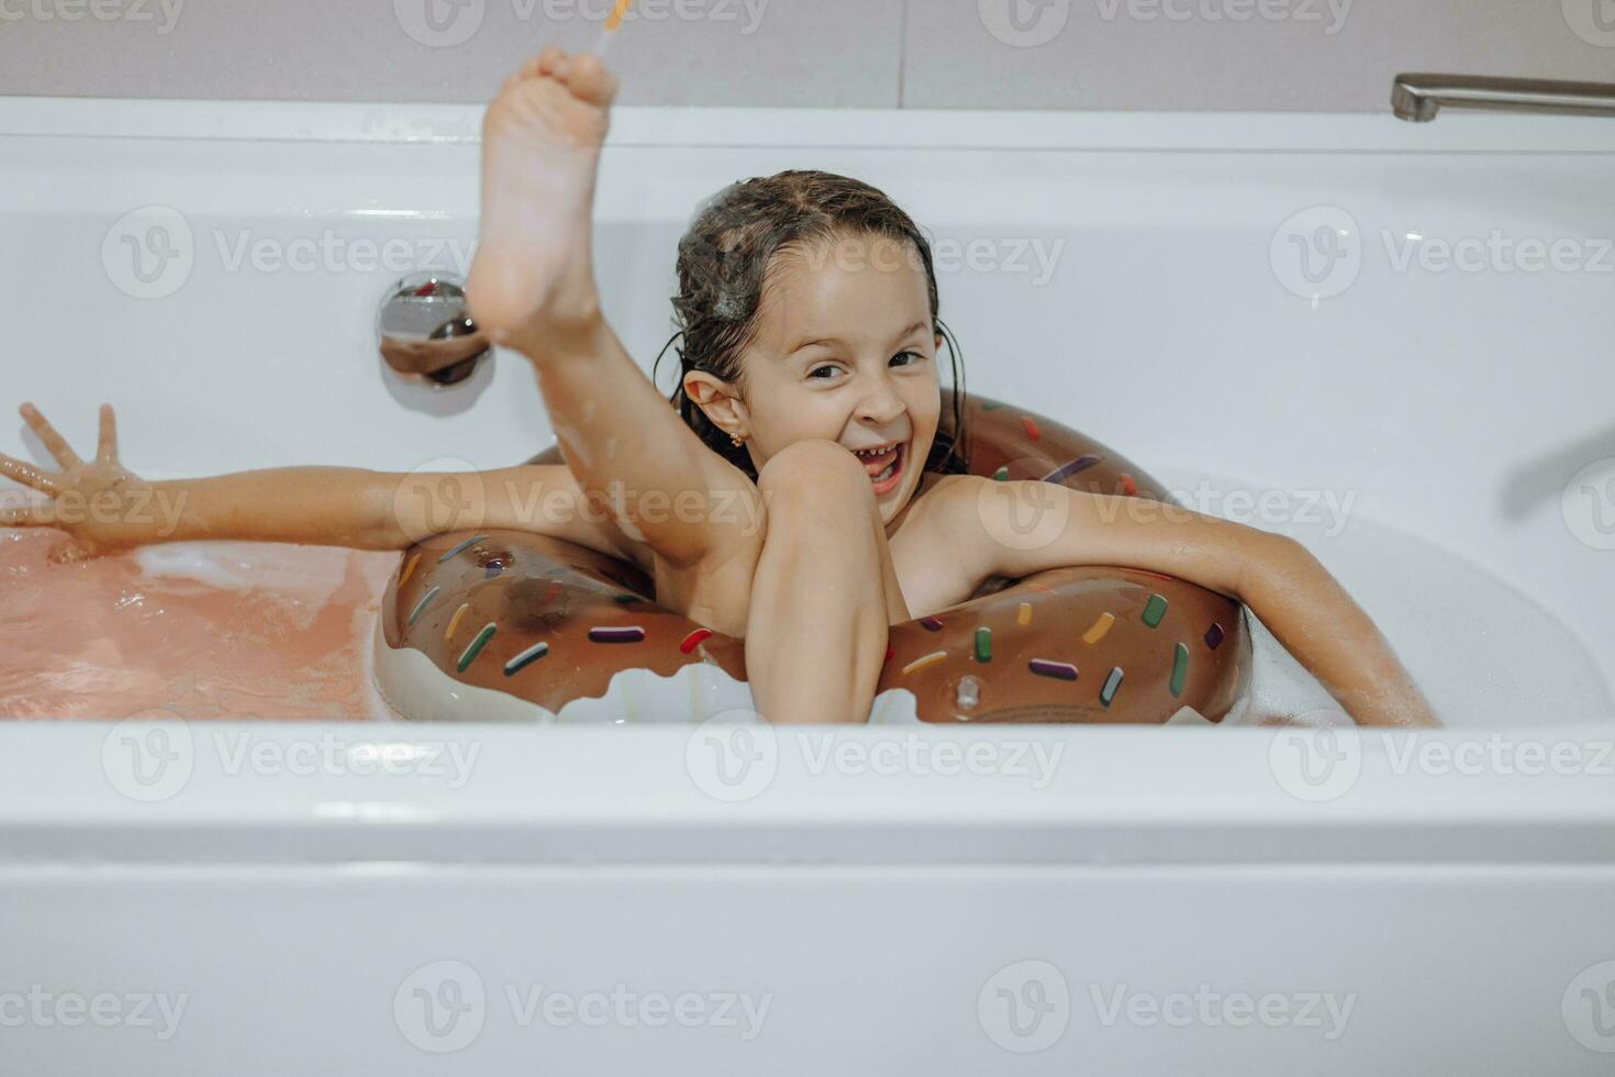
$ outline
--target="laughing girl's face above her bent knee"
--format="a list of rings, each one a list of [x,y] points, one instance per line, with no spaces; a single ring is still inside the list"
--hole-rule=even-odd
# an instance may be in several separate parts
[[[808,438],[848,450],[898,444],[895,481],[870,480],[890,523],[919,488],[937,434],[940,339],[908,241],[848,236],[790,249],[770,266],[756,341],[741,355],[746,399],[725,388],[714,418],[748,436],[759,473]]]

